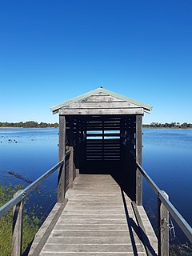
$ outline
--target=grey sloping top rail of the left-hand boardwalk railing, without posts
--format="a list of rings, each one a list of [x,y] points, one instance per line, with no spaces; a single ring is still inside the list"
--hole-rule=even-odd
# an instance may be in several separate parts
[[[21,202],[22,199],[26,197],[27,194],[30,194],[32,190],[34,190],[44,179],[48,178],[50,174],[53,174],[55,170],[58,170],[58,167],[62,166],[64,164],[64,160],[58,162],[55,166],[53,166],[50,170],[47,170],[45,174],[42,174],[38,179],[36,179],[33,183],[31,183],[29,186],[26,186],[24,190],[21,191],[21,193],[18,193],[14,198],[10,199],[9,202],[6,202],[5,205],[0,207],[0,218],[7,213],[8,210],[11,210],[14,206],[18,204],[18,202]]]

